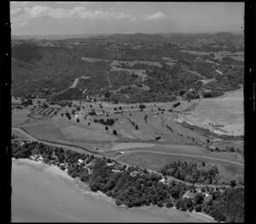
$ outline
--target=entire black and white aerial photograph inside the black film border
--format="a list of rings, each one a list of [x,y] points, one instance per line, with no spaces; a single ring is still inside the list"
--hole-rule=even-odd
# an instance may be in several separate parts
[[[9,4],[12,222],[245,221],[245,3]]]

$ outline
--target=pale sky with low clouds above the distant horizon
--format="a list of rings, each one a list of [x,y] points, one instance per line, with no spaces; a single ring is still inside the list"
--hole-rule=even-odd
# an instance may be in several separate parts
[[[242,32],[244,3],[11,2],[12,35]]]

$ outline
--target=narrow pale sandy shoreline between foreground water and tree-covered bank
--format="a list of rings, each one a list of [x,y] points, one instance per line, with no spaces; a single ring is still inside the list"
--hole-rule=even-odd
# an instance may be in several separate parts
[[[73,181],[73,183],[75,184],[75,188],[76,190],[78,190],[81,194],[86,194],[86,195],[90,195],[90,197],[96,198],[96,199],[100,199],[103,200],[105,202],[108,202],[109,204],[114,205],[115,207],[117,207],[119,210],[147,210],[149,212],[154,213],[154,211],[152,210],[160,210],[160,212],[166,212],[168,213],[169,216],[172,216],[170,213],[177,211],[177,209],[175,207],[172,208],[159,208],[155,205],[149,205],[149,206],[141,206],[141,207],[134,207],[134,208],[128,208],[125,205],[121,205],[118,206],[115,204],[115,200],[114,198],[108,197],[106,194],[104,194],[103,192],[97,191],[97,192],[92,192],[90,191],[90,187],[88,184],[84,183],[83,181],[80,181],[77,178],[72,178],[70,175],[67,174],[67,171],[65,170],[61,170],[59,167],[54,166],[54,165],[49,165],[49,164],[45,164],[44,162],[39,162],[39,161],[34,161],[32,159],[29,158],[12,158],[12,162],[20,162],[21,164],[28,164],[28,165],[35,165],[35,166],[43,166],[42,168],[46,171],[49,171],[49,173],[51,173],[52,175],[56,175],[62,178],[67,179],[68,181]],[[79,186],[80,185],[80,186]],[[81,187],[82,185],[82,187]],[[178,210],[180,211],[180,210]],[[201,212],[189,212],[189,211],[185,211],[184,213],[186,213],[187,215],[190,215],[192,217],[195,217],[196,219],[200,219],[201,221],[205,221],[205,222],[216,222],[212,216],[201,213]]]

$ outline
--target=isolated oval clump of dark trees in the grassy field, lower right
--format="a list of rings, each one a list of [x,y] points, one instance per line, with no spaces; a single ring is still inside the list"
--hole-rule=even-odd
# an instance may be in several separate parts
[[[172,161],[170,164],[166,164],[161,169],[162,175],[171,175],[175,178],[187,181],[189,183],[204,183],[212,184],[217,182],[218,167],[216,164],[205,164],[187,162],[187,161]]]

